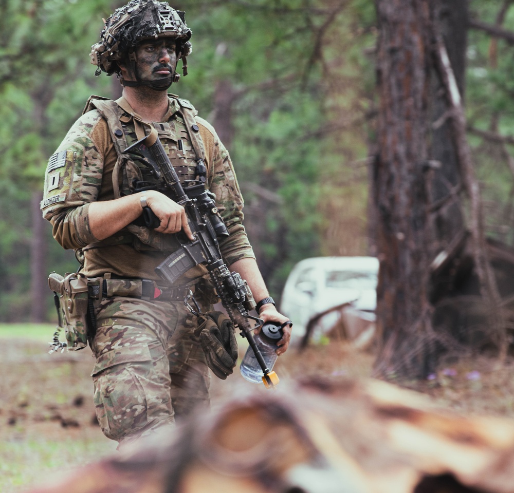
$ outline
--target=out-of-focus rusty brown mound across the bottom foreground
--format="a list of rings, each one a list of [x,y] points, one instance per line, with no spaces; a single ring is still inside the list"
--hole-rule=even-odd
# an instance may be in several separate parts
[[[369,380],[283,383],[30,493],[514,491],[514,422]]]

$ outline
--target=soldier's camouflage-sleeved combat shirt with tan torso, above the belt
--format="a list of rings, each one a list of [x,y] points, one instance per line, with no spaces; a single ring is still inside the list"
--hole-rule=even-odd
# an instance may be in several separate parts
[[[113,121],[112,108],[116,109],[117,121]],[[241,258],[254,258],[242,224],[243,198],[227,149],[214,128],[196,115],[188,101],[170,94],[164,121],[153,125],[181,181],[194,178],[199,141],[205,153],[201,157],[207,166],[206,186],[216,196],[219,213],[230,233],[220,242],[230,266]],[[195,125],[189,125],[191,118]],[[154,268],[178,247],[175,235],[164,235],[146,227],[128,225],[102,241],[90,231],[91,202],[131,194],[134,178],[143,181],[148,178],[148,168],[115,148],[115,141],[118,146],[119,142],[126,142],[122,150],[136,141],[136,126],[131,115],[114,102],[92,97],[82,117],[70,128],[48,162],[41,203],[43,217],[52,223],[53,237],[63,248],[83,250],[82,272],[87,277],[112,273],[157,279]],[[196,135],[192,135],[188,126],[194,127]],[[197,266],[186,277],[198,277],[205,272],[203,266]]]

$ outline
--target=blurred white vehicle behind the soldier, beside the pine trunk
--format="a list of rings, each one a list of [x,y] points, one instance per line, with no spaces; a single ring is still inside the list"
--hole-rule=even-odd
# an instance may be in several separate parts
[[[311,318],[346,302],[351,304],[344,309],[348,331],[362,332],[370,324],[374,327],[377,278],[375,257],[314,257],[298,262],[287,278],[280,304],[280,312],[293,322],[293,338],[305,335]],[[313,338],[328,332],[342,314],[335,311],[323,316]]]

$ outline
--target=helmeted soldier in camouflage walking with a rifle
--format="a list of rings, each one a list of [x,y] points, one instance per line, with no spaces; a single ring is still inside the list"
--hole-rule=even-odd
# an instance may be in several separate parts
[[[191,34],[184,13],[166,2],[132,0],[117,9],[91,49],[91,62],[96,75],[117,75],[123,96],[116,102],[92,96],[46,172],[43,216],[62,247],[79,253],[95,297],[96,333],[89,334],[94,400],[103,432],[119,447],[173,427],[175,418],[209,402],[209,358],[184,299],[191,290],[209,312],[217,301],[212,282],[202,265],[174,286],[156,275],[155,267],[177,250],[177,234],[192,239],[192,233],[184,208],[159,191],[144,162],[124,153],[150,125],[181,182],[201,178],[196,164],[205,163],[206,185],[230,233],[220,241],[227,265],[248,281],[263,320],[287,321],[269,297],[246,237],[243,198],[226,148],[191,103],[167,93],[179,79],[179,59],[187,74]],[[139,222],[143,207],[157,216],[155,229]],[[233,333],[230,324],[220,325]],[[286,324],[278,354],[289,339]],[[215,371],[221,378],[235,365],[230,354],[229,364]]]

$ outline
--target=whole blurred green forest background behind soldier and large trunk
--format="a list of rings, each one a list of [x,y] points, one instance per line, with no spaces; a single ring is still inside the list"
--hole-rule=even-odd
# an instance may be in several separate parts
[[[90,46],[125,2],[0,2],[0,321],[53,320],[51,271],[76,270],[41,218],[48,157],[90,94]],[[380,3],[380,2],[378,2]],[[467,132],[485,232],[514,243],[514,7],[469,0]],[[442,2],[451,9],[452,0]],[[317,255],[376,255],[370,175],[376,149],[377,11],[372,0],[177,0],[193,31],[191,100],[230,150],[245,221],[271,294]],[[462,26],[461,26],[462,27]]]

